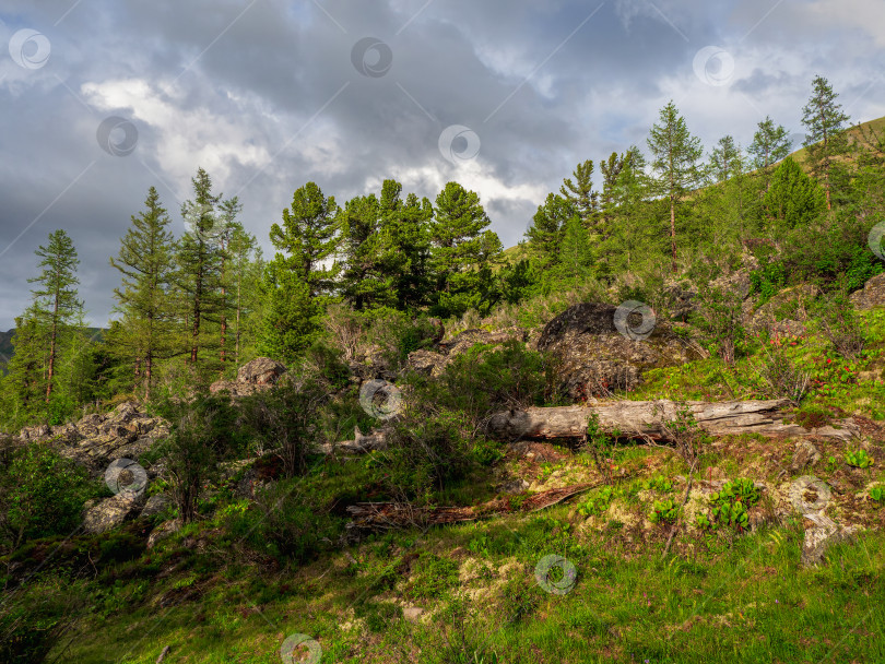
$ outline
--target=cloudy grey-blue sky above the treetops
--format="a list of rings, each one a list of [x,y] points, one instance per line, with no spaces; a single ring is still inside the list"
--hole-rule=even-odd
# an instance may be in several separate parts
[[[646,139],[671,99],[709,152],[770,115],[804,139],[812,80],[885,116],[882,0],[0,0],[0,330],[63,228],[87,321],[156,187],[177,235],[202,167],[266,254],[315,181],[476,191],[505,247],[585,159]],[[599,185],[599,178],[597,178]]]

